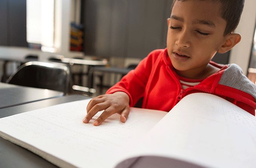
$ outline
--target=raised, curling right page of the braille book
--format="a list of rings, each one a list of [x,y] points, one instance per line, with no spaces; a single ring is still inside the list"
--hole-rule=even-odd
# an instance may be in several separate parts
[[[194,93],[185,96],[149,131],[137,150],[127,155],[133,162],[125,160],[117,168],[130,167],[129,163],[133,168],[154,167],[156,160],[162,160],[159,167],[176,163],[197,165],[189,167],[255,167],[256,118],[218,96]],[[150,159],[152,156],[162,158]]]

